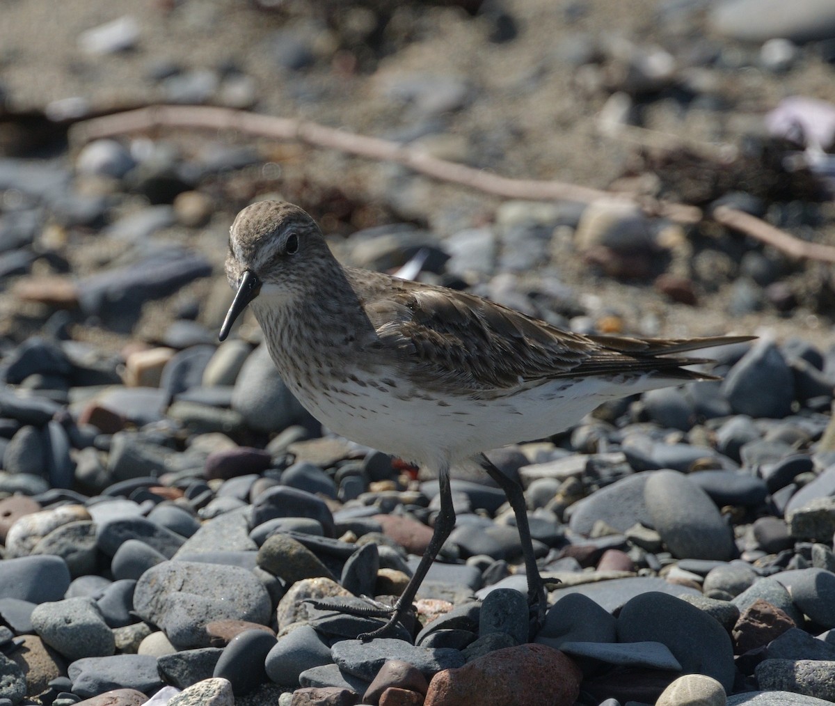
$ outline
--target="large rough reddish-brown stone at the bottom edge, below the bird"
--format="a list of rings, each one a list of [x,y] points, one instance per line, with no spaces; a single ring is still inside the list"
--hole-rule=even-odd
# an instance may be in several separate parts
[[[429,683],[425,706],[572,706],[583,673],[574,661],[546,645],[504,648],[444,669]]]

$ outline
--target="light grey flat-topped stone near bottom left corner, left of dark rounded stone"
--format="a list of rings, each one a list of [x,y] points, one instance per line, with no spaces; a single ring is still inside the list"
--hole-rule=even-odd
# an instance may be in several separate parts
[[[81,697],[97,696],[115,688],[135,688],[147,695],[163,685],[157,659],[141,654],[77,659],[67,673],[73,680],[73,693]]]

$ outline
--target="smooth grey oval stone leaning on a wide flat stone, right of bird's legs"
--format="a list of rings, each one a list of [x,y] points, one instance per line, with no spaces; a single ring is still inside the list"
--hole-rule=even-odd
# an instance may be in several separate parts
[[[674,556],[720,561],[736,556],[719,509],[686,475],[660,470],[646,481],[644,496],[652,524]]]

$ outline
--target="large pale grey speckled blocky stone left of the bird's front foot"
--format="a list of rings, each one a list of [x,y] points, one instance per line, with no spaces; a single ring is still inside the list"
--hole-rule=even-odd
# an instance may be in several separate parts
[[[230,593],[228,587],[234,586]],[[177,648],[208,647],[205,625],[220,618],[265,624],[271,600],[251,572],[237,566],[166,561],[141,576],[134,611],[162,628]]]

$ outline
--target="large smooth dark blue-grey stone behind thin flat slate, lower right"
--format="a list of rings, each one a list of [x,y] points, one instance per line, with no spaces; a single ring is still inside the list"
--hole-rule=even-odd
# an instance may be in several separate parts
[[[735,667],[731,637],[712,617],[665,593],[644,593],[620,609],[618,641],[665,644],[685,672],[716,678],[731,691]]]

